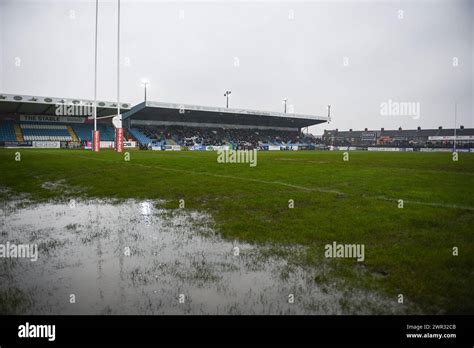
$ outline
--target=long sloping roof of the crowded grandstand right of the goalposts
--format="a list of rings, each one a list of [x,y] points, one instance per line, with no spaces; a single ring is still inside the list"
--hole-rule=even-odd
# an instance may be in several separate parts
[[[174,122],[177,124],[184,122],[215,123],[291,128],[304,128],[328,121],[328,118],[323,116],[153,101],[134,106],[124,113],[123,119]]]

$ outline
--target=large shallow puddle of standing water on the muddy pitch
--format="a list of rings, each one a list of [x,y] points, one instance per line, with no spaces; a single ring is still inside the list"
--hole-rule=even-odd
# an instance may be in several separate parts
[[[156,203],[4,203],[0,245],[36,244],[38,260],[0,258],[0,314],[405,311],[378,295],[318,285],[321,269],[225,241],[209,215]]]

